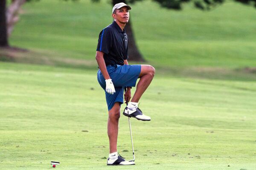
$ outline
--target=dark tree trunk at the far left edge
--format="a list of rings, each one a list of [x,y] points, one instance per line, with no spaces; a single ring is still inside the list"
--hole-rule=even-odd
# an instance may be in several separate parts
[[[0,0],[0,47],[9,46],[6,25],[6,0]]]

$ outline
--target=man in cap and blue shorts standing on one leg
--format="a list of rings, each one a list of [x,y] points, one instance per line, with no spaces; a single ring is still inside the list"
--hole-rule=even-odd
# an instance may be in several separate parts
[[[149,121],[151,118],[142,113],[138,102],[144,91],[151,83],[155,69],[151,65],[128,65],[128,36],[125,24],[129,21],[130,6],[117,3],[112,9],[113,23],[104,28],[99,34],[96,50],[96,60],[99,65],[98,82],[105,90],[108,105],[108,137],[110,154],[108,165],[132,165],[134,161],[125,161],[117,153],[118,122],[120,108],[123,103],[124,88],[125,101],[131,99],[131,87],[135,87],[137,79],[140,81],[131,102],[123,114],[138,120]]]

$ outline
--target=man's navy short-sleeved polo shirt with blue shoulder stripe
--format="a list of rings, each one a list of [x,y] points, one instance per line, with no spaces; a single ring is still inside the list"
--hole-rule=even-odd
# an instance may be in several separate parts
[[[128,59],[128,36],[115,21],[99,33],[96,51],[104,53],[106,65],[124,65]]]

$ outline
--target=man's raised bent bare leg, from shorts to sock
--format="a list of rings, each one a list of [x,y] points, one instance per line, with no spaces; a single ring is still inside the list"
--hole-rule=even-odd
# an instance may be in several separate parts
[[[131,102],[139,102],[140,97],[150,85],[154,77],[155,69],[151,65],[141,65],[140,81],[137,84],[136,91],[134,93]]]

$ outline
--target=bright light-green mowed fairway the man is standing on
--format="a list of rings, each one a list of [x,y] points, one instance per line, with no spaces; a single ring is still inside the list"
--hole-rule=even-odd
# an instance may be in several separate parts
[[[0,169],[254,170],[256,83],[155,76],[132,119],[135,166],[107,167],[107,107],[95,70],[0,62]],[[133,89],[134,91],[134,89]],[[124,108],[124,106],[122,106]],[[132,158],[128,119],[119,153]]]

